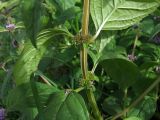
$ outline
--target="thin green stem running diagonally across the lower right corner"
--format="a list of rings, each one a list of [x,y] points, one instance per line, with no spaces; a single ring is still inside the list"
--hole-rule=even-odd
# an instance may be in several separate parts
[[[149,88],[147,88],[128,108],[126,108],[124,111],[122,111],[121,113],[117,114],[116,116],[114,116],[112,118],[112,120],[116,120],[119,117],[123,116],[124,114],[126,114],[131,108],[133,108],[134,106],[136,106],[141,100],[143,100],[143,98],[153,89],[155,88],[158,83],[160,82],[160,77],[154,81]]]

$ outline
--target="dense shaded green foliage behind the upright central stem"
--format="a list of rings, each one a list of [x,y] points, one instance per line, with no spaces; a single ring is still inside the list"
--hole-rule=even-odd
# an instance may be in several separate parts
[[[38,113],[41,112],[44,112],[43,117],[50,117],[46,120],[50,120],[53,113],[59,116],[57,119],[65,119],[66,116],[60,117],[68,109],[64,105],[58,113],[52,107],[55,101],[70,105],[72,111],[79,109],[73,120],[80,110],[85,111],[80,115],[82,119],[89,119],[88,111],[90,119],[94,119],[85,90],[80,91],[80,95],[69,92],[69,97],[65,96],[68,91],[84,87],[80,43],[76,41],[81,31],[82,8],[81,0],[0,1],[0,106],[6,109],[7,119],[40,119]],[[91,35],[96,31],[92,17]],[[93,80],[96,101],[105,119],[122,112],[158,78],[159,21],[157,8],[127,29],[102,31],[95,44],[89,44],[89,71],[97,61],[100,62],[95,74],[90,73],[89,77]],[[11,23],[16,28],[9,31],[6,25]],[[37,90],[33,90],[30,79],[37,81],[33,84],[38,86],[35,87]],[[44,84],[46,81],[51,86]],[[38,93],[38,100],[32,90]],[[79,103],[82,105],[78,106]],[[43,109],[45,105],[47,107]],[[122,119],[158,120],[158,105],[157,84]]]

